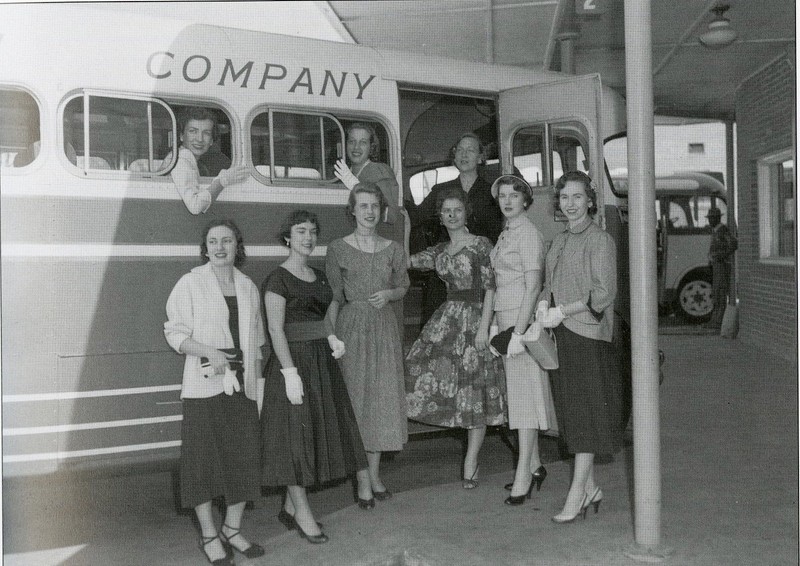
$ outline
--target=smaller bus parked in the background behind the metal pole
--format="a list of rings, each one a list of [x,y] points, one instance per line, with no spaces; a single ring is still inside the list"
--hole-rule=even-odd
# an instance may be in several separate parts
[[[712,208],[728,223],[722,174],[678,171],[656,179],[658,304],[688,322],[707,321],[714,309],[708,249],[711,227],[706,215]],[[628,180],[612,179],[620,196],[628,194]],[[621,204],[624,209],[624,201]]]

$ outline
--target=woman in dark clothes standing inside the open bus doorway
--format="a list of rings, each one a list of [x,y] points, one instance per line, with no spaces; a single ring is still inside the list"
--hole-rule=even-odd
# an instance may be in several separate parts
[[[469,233],[485,236],[492,245],[503,229],[503,214],[492,197],[491,185],[478,174],[478,166],[486,161],[486,151],[480,138],[468,132],[463,134],[452,150],[453,165],[458,177],[433,186],[419,206],[409,205],[411,227],[421,229],[428,246],[447,241],[448,232],[439,217],[439,195],[450,188],[458,188],[467,195],[470,212],[465,219]],[[422,322],[430,319],[447,296],[441,279],[435,276],[425,281],[422,298]]]

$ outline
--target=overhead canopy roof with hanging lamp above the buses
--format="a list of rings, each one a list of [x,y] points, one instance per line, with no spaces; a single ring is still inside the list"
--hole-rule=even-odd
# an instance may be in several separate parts
[[[586,2],[580,0],[583,5]],[[654,0],[655,113],[732,119],[744,79],[795,50],[791,0],[729,0],[736,41],[712,50],[698,37],[717,0]],[[559,36],[575,34],[575,72],[599,72],[625,94],[623,0],[592,0],[604,13],[576,13],[576,0],[328,2],[357,43],[377,48],[560,70]],[[791,119],[791,117],[787,117]]]

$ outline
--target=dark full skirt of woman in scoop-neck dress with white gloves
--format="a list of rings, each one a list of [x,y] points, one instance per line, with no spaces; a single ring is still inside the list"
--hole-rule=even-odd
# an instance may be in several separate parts
[[[289,350],[303,382],[303,403],[292,405],[286,398],[273,354],[264,369],[262,485],[311,486],[366,468],[353,406],[328,341],[290,342]]]

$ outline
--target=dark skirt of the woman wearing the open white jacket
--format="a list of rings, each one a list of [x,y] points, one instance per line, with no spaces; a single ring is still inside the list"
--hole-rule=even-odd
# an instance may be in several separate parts
[[[261,496],[258,406],[243,393],[183,400],[181,504],[219,496],[228,505]]]

